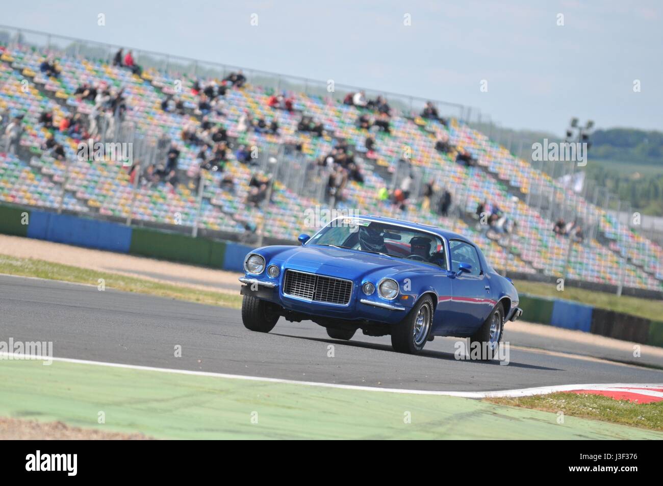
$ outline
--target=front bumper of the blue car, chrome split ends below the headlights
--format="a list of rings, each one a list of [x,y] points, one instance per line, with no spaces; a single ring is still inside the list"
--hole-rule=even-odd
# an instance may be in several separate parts
[[[397,301],[388,302],[379,299],[375,294],[372,296],[361,294],[361,296],[359,296],[361,288],[356,284],[350,302],[347,305],[342,306],[284,295],[280,292],[279,284],[269,280],[260,280],[258,278],[245,276],[240,277],[239,281],[244,284],[240,289],[242,295],[269,300],[287,310],[308,314],[310,316],[345,320],[369,320],[385,322],[386,324],[396,324],[397,322],[400,322],[410,310],[409,307],[402,306]]]

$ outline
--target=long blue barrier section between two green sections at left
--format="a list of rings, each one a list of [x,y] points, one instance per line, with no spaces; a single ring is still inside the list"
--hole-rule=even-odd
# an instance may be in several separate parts
[[[66,214],[32,211],[28,237],[80,247],[128,253],[131,227]]]

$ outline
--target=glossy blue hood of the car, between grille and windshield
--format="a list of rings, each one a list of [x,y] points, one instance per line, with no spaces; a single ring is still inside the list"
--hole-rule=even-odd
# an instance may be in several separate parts
[[[356,279],[373,273],[440,272],[437,267],[407,259],[334,247],[267,247],[258,253],[267,256],[271,248],[281,249],[270,256],[284,268],[343,278]]]

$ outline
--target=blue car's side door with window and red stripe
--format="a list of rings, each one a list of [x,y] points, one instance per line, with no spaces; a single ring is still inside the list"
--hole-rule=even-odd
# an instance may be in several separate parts
[[[474,245],[452,239],[449,241],[449,249],[452,272],[457,274],[452,278],[450,319],[454,328],[473,332],[490,312],[491,288]],[[461,263],[469,263],[471,271],[459,273]]]

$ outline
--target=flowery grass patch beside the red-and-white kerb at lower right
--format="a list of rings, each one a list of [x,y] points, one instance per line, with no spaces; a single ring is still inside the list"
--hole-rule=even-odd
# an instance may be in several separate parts
[[[663,432],[663,402],[637,404],[628,400],[615,400],[609,396],[577,393],[551,393],[522,398],[485,398],[485,401],[556,414],[563,412],[564,416],[592,418]]]

